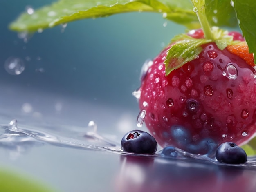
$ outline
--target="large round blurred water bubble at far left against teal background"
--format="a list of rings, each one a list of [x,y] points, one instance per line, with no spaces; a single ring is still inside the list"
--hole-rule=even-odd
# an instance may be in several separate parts
[[[9,57],[5,60],[4,68],[11,75],[19,75],[24,71],[25,65],[22,59]]]

